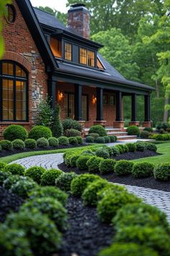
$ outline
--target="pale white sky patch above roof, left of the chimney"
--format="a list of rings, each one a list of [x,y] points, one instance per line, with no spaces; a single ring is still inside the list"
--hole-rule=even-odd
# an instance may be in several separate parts
[[[30,0],[33,7],[50,7],[56,9],[59,12],[67,12],[68,7],[66,8],[67,0]]]

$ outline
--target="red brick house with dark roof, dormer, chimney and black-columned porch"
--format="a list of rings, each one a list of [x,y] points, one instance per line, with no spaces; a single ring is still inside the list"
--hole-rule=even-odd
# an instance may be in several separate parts
[[[40,100],[48,94],[59,103],[61,118],[85,127],[102,124],[122,129],[122,98],[132,98],[130,124],[136,120],[136,95],[143,95],[150,127],[153,88],[126,80],[98,53],[103,46],[89,40],[89,12],[83,4],[68,10],[65,27],[30,0],[13,0],[4,17],[5,51],[0,60],[0,136],[9,124],[30,129]]]

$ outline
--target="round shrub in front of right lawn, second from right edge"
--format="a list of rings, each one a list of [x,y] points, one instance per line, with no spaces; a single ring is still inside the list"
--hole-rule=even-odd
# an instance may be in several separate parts
[[[133,165],[132,174],[135,178],[143,178],[153,175],[153,163],[142,162]]]

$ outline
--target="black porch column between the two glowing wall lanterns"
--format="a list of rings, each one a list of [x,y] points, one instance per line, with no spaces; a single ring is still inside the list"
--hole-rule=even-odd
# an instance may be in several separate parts
[[[75,84],[75,116],[77,121],[82,120],[82,86]]]

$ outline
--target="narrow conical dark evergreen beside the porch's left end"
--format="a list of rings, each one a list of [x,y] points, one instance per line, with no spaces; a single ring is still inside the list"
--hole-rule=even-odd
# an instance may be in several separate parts
[[[61,107],[59,104],[55,106],[53,113],[52,132],[53,136],[56,138],[63,136],[63,126],[61,124]]]

